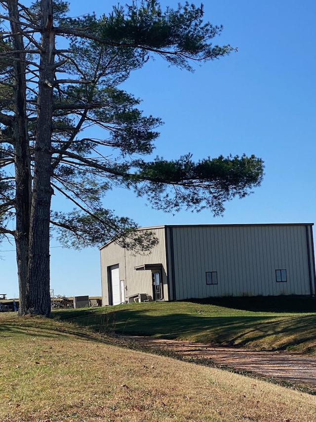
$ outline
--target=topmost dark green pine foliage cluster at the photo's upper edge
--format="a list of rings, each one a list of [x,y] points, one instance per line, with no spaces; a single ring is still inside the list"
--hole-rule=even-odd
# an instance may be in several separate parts
[[[186,2],[175,10],[168,7],[162,12],[158,1],[144,0],[140,5],[133,1],[130,6],[114,7],[109,16],[102,16],[100,26],[92,16],[87,18],[89,25],[94,23],[93,31],[98,29],[97,36],[109,45],[148,47],[148,51],[158,52],[171,64],[193,70],[190,60],[218,58],[233,49],[229,45],[213,47],[209,43],[221,33],[222,26],[204,24],[202,17],[202,5],[196,7]]]

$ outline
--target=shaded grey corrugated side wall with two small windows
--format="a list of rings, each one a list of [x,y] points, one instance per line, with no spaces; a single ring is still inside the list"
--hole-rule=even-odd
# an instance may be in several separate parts
[[[315,293],[315,270],[309,269],[311,226],[169,226],[167,231],[176,292],[172,299],[308,295],[311,287]],[[281,269],[286,269],[286,282],[276,282]],[[218,284],[206,284],[206,272],[217,272]]]

